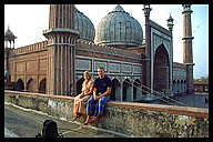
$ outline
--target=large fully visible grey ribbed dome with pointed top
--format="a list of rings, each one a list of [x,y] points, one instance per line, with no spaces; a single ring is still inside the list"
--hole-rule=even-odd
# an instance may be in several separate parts
[[[138,47],[142,41],[142,27],[120,4],[102,18],[97,27],[97,44]]]

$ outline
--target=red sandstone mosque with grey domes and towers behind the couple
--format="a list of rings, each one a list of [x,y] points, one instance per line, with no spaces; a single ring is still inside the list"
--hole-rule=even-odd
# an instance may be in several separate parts
[[[4,81],[18,91],[74,97],[81,91],[83,72],[95,79],[98,68],[103,67],[113,82],[111,100],[191,94],[193,11],[190,4],[182,7],[183,63],[178,63],[173,62],[173,18],[169,16],[168,29],[159,26],[150,19],[150,4],[142,8],[145,29],[120,4],[95,29],[74,4],[50,4],[45,41],[14,49],[17,37],[6,31]]]

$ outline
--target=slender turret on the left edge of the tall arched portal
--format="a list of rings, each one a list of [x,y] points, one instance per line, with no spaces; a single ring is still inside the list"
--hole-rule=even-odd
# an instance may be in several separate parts
[[[143,84],[151,89],[151,41],[150,41],[150,4],[143,4],[143,11],[145,16],[145,59],[143,59]],[[150,92],[146,88],[143,88],[145,93]],[[151,92],[150,92],[151,93]]]

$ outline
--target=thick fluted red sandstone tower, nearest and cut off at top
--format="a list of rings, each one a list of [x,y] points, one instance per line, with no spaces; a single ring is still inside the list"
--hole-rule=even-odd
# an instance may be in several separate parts
[[[74,6],[50,4],[47,93],[70,95],[75,89],[74,55],[79,32],[74,30]]]

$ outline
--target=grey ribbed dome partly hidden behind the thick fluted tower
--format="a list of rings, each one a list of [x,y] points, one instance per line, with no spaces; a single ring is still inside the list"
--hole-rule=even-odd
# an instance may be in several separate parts
[[[94,26],[91,20],[75,8],[74,29],[80,32],[80,39],[94,42]]]

